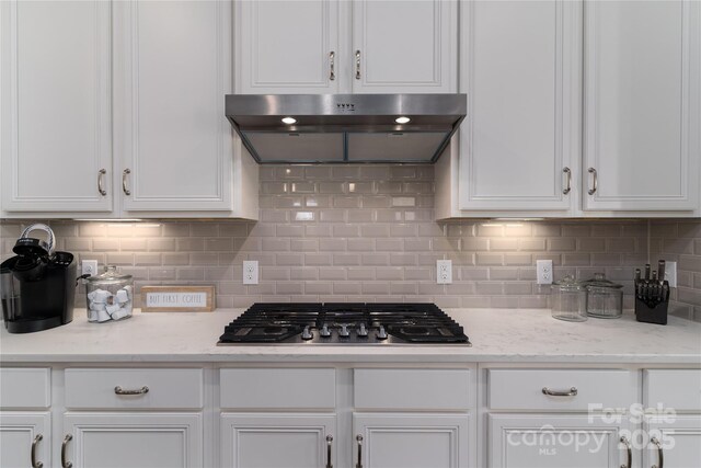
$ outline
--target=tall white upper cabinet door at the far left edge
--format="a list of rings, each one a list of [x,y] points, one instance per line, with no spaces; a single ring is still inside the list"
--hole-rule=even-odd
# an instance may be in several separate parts
[[[112,210],[110,10],[0,2],[4,210]]]

